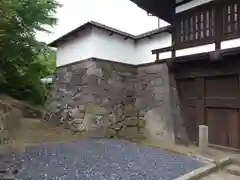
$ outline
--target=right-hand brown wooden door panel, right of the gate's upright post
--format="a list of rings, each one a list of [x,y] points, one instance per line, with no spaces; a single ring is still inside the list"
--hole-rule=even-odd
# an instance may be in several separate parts
[[[212,144],[240,148],[238,75],[205,78],[205,123]]]

